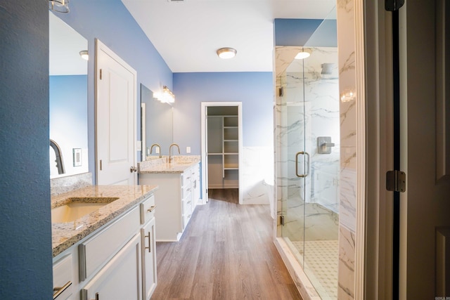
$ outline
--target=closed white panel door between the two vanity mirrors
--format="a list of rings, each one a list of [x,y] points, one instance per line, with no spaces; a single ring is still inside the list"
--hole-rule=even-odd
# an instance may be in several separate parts
[[[136,174],[136,71],[96,40],[98,185],[133,185]]]

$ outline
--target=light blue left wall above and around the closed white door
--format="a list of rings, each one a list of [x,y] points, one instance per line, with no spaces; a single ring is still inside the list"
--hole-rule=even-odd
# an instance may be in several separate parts
[[[141,107],[140,84],[152,91],[169,86],[172,89],[172,71],[156,51],[141,27],[120,0],[77,0],[70,2],[70,13],[58,14],[68,25],[88,40],[89,53],[95,53],[95,39],[99,39],[125,60],[138,74],[137,107]],[[94,56],[91,56],[94,58]],[[95,178],[94,141],[94,59],[88,64],[88,128],[89,171]],[[141,136],[141,115],[136,113],[137,136]],[[140,152],[137,157],[140,157]]]

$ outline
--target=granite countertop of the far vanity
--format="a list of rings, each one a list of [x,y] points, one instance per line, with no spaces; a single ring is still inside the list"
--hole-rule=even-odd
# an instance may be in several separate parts
[[[200,162],[200,155],[180,155],[174,156],[171,163],[168,162],[167,157],[160,159],[146,160],[139,162],[139,174],[176,174],[183,173],[187,169],[193,167]]]

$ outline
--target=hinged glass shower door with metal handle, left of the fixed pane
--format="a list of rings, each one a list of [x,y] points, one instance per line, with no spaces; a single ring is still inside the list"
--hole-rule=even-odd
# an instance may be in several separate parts
[[[306,151],[305,135],[307,122],[305,116],[302,60],[294,60],[278,77],[281,84],[281,97],[278,98],[281,141],[281,173],[283,178],[283,217],[281,236],[290,245],[291,251],[303,266],[304,249],[304,211],[307,197],[307,173],[309,153]]]

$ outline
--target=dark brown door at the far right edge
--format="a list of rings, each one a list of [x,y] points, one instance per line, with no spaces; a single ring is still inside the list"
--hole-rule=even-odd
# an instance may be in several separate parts
[[[449,8],[445,0],[408,1],[399,11],[401,169],[407,176],[399,299],[450,296]]]

